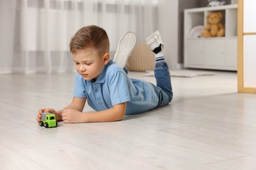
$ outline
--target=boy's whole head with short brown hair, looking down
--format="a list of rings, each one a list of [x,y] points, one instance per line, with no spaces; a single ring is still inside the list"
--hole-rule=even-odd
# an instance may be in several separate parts
[[[70,42],[75,69],[85,80],[96,80],[110,61],[110,42],[104,29],[95,25],[82,27]]]

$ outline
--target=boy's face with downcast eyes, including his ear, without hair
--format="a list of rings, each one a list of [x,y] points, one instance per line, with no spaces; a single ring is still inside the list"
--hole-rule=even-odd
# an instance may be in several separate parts
[[[109,61],[109,54],[99,56],[94,48],[81,50],[73,54],[75,69],[85,80],[97,79],[104,65]]]

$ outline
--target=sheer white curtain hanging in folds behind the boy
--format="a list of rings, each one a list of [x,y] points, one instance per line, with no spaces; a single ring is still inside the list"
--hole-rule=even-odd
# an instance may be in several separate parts
[[[95,24],[110,38],[134,31],[138,41],[157,27],[157,0],[1,0],[0,73],[74,71],[69,42],[75,32]],[[7,19],[9,18],[9,19]]]

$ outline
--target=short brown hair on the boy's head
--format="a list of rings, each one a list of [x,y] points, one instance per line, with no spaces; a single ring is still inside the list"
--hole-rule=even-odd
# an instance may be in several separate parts
[[[75,54],[78,51],[93,48],[99,56],[109,53],[110,41],[104,29],[96,25],[89,25],[79,29],[70,41],[70,52]]]

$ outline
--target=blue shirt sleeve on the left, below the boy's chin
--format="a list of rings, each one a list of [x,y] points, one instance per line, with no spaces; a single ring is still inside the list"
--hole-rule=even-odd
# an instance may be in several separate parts
[[[75,87],[74,87],[74,97],[85,98],[87,97],[87,92],[85,89],[85,80],[78,73],[75,74]]]

